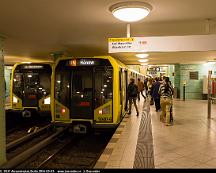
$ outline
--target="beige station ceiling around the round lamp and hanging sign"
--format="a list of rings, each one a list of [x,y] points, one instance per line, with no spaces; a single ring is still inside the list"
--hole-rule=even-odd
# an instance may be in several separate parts
[[[108,55],[109,37],[126,37],[126,24],[109,7],[123,0],[0,0],[0,33],[6,36],[5,63],[52,61],[52,53]],[[143,1],[143,0],[139,0]],[[144,0],[153,6],[145,19],[131,24],[131,36],[216,33],[216,0]],[[206,19],[210,19],[209,32]],[[149,53],[149,64],[204,63],[209,52]],[[139,64],[134,53],[110,54]]]

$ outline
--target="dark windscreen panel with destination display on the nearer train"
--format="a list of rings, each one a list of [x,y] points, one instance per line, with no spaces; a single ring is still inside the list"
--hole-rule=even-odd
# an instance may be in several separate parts
[[[90,119],[94,109],[112,100],[113,68],[106,59],[60,61],[55,98],[70,109],[71,118]]]

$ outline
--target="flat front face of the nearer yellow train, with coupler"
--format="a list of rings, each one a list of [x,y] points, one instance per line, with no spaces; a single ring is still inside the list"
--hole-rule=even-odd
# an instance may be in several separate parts
[[[109,59],[60,60],[55,68],[54,117],[74,133],[113,126],[113,67]]]

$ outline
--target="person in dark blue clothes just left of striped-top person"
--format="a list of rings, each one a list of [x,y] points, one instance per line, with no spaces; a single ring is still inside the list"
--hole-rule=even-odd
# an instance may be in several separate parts
[[[152,97],[154,99],[155,102],[155,108],[156,108],[156,112],[158,112],[161,108],[160,106],[160,95],[159,95],[159,88],[160,88],[160,82],[159,82],[159,78],[156,77],[155,78],[155,82],[152,86]]]

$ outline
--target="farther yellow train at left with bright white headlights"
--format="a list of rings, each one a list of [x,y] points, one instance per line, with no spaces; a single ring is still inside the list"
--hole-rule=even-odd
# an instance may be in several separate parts
[[[22,113],[51,114],[51,63],[16,63],[12,68],[10,103],[11,109]]]

